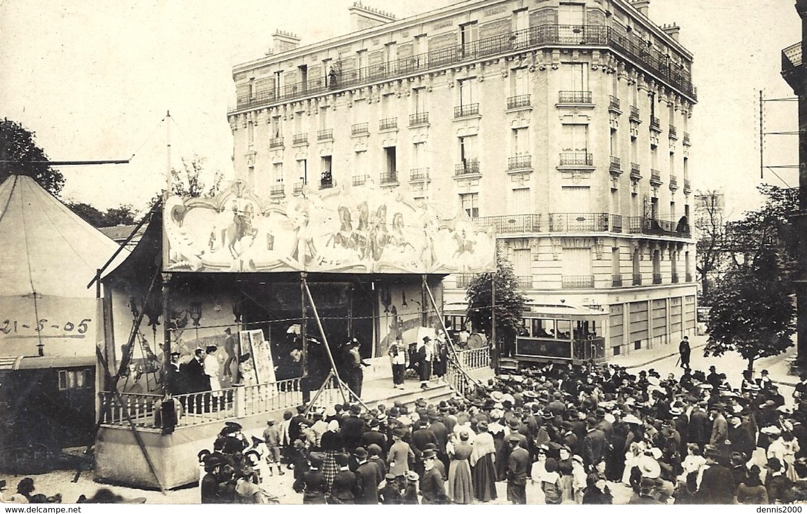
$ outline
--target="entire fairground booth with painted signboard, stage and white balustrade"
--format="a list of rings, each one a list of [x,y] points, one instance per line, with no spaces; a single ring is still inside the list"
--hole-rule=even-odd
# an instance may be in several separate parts
[[[452,394],[416,381],[394,390],[389,344],[443,327],[442,277],[491,271],[493,234],[464,213],[441,220],[428,204],[366,192],[304,187],[265,204],[236,182],[216,198],[163,201],[132,255],[102,279],[100,478],[180,487],[199,479],[196,454],[224,421],[262,430],[303,402],[372,407]],[[361,384],[353,339],[370,364]],[[455,381],[491,373],[449,368]]]

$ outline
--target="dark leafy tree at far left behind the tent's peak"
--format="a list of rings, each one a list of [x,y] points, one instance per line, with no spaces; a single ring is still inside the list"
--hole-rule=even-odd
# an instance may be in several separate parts
[[[16,121],[0,121],[0,183],[10,175],[27,175],[59,196],[65,177],[50,166],[48,156],[34,142],[35,135]]]

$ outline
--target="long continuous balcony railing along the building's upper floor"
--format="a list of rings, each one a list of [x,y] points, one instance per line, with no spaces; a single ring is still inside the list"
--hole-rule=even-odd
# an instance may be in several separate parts
[[[641,36],[629,34],[621,27],[541,24],[516,32],[505,32],[483,38],[468,44],[458,44],[414,56],[401,57],[395,61],[382,62],[357,70],[337,70],[337,74],[332,77],[308,78],[306,81],[242,95],[236,99],[236,109],[231,113],[266,107],[305,96],[345,90],[362,82],[401,78],[420,74],[424,70],[445,68],[464,61],[475,61],[482,57],[557,44],[613,48],[630,61],[637,62],[662,81],[679,89],[684,95],[688,95],[692,99],[697,98],[696,90],[692,86],[690,71],[682,65],[675,64],[666,53],[662,53],[659,49],[648,48],[646,41]],[[798,61],[801,64],[801,44],[797,45],[797,49]],[[789,50],[787,52],[788,56],[795,55],[795,53]],[[792,59],[789,57],[788,65],[792,66]]]

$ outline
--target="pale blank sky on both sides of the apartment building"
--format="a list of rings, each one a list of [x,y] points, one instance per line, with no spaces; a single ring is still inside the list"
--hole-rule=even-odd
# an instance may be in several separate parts
[[[399,18],[454,0],[365,0]],[[21,122],[53,160],[128,165],[61,168],[65,200],[143,209],[171,164],[198,154],[208,176],[232,171],[232,66],[263,57],[276,30],[301,44],[349,32],[353,0],[0,0],[0,116]],[[699,103],[689,132],[693,190],[720,189],[730,217],[759,206],[759,183],[796,187],[797,171],[759,177],[759,90],[792,97],[782,48],[801,40],[792,0],[652,0],[695,56]],[[797,103],[766,102],[764,132],[797,130]],[[170,124],[164,121],[170,111]],[[797,164],[797,137],[766,136],[767,166]]]

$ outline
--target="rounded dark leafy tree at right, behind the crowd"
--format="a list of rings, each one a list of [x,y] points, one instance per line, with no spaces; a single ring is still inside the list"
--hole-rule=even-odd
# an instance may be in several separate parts
[[[704,356],[738,352],[753,371],[755,360],[792,347],[790,336],[796,330],[791,289],[780,277],[772,248],[736,263],[713,290]]]

